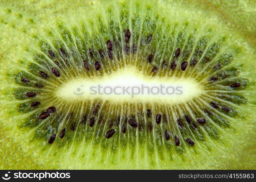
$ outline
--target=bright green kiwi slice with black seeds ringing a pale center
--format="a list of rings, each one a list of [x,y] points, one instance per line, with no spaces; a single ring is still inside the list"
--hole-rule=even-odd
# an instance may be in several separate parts
[[[191,3],[2,1],[1,169],[255,167],[251,34]],[[184,92],[80,95],[124,82]]]

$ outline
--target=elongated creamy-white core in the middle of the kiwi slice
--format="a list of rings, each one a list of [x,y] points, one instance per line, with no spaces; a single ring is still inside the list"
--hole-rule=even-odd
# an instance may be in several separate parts
[[[67,102],[88,99],[113,102],[180,103],[198,97],[204,90],[193,79],[145,76],[133,66],[104,76],[75,78],[65,82],[56,96]]]

